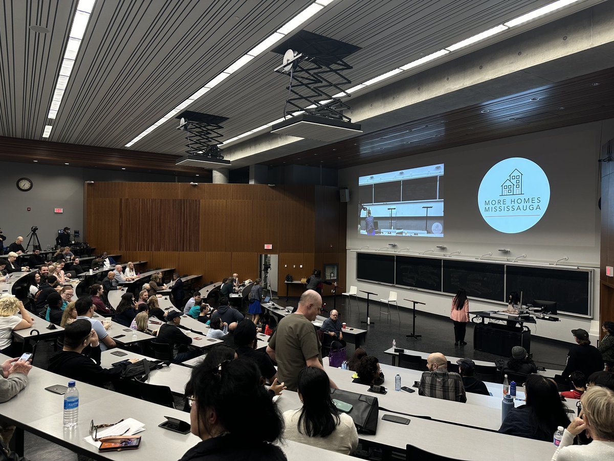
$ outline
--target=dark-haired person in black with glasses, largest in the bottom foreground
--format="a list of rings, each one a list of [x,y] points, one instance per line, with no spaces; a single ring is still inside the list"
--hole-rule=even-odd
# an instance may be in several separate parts
[[[190,382],[190,425],[192,433],[203,441],[180,461],[286,460],[281,449],[272,444],[282,435],[284,424],[277,406],[260,385],[255,363],[239,359],[211,367],[203,361],[192,370]],[[249,397],[237,398],[239,395]]]

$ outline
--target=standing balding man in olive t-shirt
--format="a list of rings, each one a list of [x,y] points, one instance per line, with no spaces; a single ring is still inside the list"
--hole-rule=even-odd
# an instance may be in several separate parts
[[[312,321],[322,309],[322,297],[314,290],[307,290],[298,301],[295,313],[286,315],[271,337],[266,353],[277,362],[279,382],[288,390],[297,390],[298,372],[306,366],[322,368],[322,345]],[[337,388],[330,380],[330,387]]]

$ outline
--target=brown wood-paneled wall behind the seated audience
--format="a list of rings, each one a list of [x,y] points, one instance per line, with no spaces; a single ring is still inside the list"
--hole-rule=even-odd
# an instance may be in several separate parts
[[[346,203],[336,187],[97,181],[85,184],[85,216],[90,245],[124,262],[147,260],[208,283],[233,272],[255,279],[258,254],[279,254],[280,294],[286,274],[300,280],[330,263],[346,288]]]

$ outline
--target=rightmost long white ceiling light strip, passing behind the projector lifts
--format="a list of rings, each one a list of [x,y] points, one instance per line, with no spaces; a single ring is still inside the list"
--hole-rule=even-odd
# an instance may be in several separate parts
[[[565,6],[568,6],[572,3],[577,3],[580,0],[558,0],[556,2],[553,2],[551,4],[548,4],[546,6],[543,6],[541,8],[538,8],[537,10],[533,10],[532,12],[529,12],[527,14],[524,14],[522,16],[519,16],[518,18],[515,18],[511,21],[505,22],[503,24],[500,24],[498,26],[495,26],[489,30],[486,30],[482,33],[476,34],[472,37],[469,37],[467,39],[464,39],[460,42],[457,42],[453,45],[449,45],[448,47],[445,47],[444,49],[438,50],[434,53],[430,53],[429,55],[426,55],[424,57],[421,57],[419,59],[416,59],[414,61],[411,61],[410,63],[404,65],[404,66],[400,66],[396,69],[392,69],[391,71],[388,71],[384,74],[381,74],[380,76],[377,77],[373,77],[372,79],[358,84],[354,87],[351,87],[347,90],[344,90],[341,93],[337,93],[336,95],[333,95],[334,98],[341,98],[341,97],[346,97],[346,96],[351,96],[352,93],[355,93],[359,90],[362,90],[363,88],[368,87],[368,85],[373,85],[375,83],[381,82],[389,77],[395,76],[396,74],[402,73],[403,71],[409,70],[409,69],[413,69],[415,67],[421,66],[429,61],[435,60],[437,58],[440,58],[446,54],[448,54],[449,52],[453,52],[456,51],[458,49],[467,47],[468,45],[472,45],[476,42],[479,42],[481,40],[487,39],[488,37],[492,37],[496,34],[499,34],[503,31],[508,30],[511,27],[520,25],[520,24],[524,24],[530,20],[533,20],[535,18],[541,17],[543,15],[546,14],[550,14],[551,12],[554,12],[556,10],[559,10]],[[327,0],[317,0],[316,4],[319,4],[321,6],[326,6],[328,3],[330,3],[330,1],[327,2]],[[313,5],[312,5],[313,6]],[[279,30],[281,31],[281,29]],[[278,32],[279,32],[278,31]],[[326,104],[327,102],[330,102],[330,100],[327,101],[320,101],[322,104]],[[307,106],[306,109],[314,109],[316,108],[316,104],[311,104],[310,106]],[[298,115],[298,114],[302,114],[305,111],[298,111],[298,112],[293,112],[292,115]],[[266,125],[263,125],[263,127],[271,127],[275,124],[278,124],[279,122],[282,122],[283,120],[286,120],[286,117],[282,118],[282,119],[277,119],[274,120],[274,122],[270,122]],[[239,140],[241,138],[244,138],[247,135],[251,135],[252,133],[259,131],[261,128],[257,128],[256,130],[251,130],[247,133],[243,133],[241,135],[235,136],[234,138],[230,138],[229,140],[224,141],[221,145],[223,146],[224,144],[230,144],[233,143],[236,140]]]

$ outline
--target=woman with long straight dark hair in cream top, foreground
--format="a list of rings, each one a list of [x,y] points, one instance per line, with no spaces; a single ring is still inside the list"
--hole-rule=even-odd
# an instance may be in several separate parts
[[[330,380],[323,369],[315,366],[301,369],[298,398],[303,407],[284,412],[287,439],[346,455],[356,450],[358,433],[354,421],[333,404]]]

